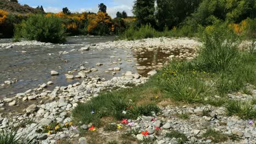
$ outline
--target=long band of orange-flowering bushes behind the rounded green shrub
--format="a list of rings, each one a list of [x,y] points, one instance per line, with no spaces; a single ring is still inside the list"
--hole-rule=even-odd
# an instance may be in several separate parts
[[[60,13],[42,14],[15,14],[9,13],[8,11],[5,10],[1,10],[0,38],[18,38],[20,37],[20,35],[23,36],[23,34],[20,33],[21,31],[17,31],[17,29],[19,30],[20,27],[28,27],[26,25],[30,23],[32,19],[35,21],[42,21],[47,23],[50,19],[51,21],[54,21],[57,20],[57,18],[59,18],[59,21],[55,21],[57,22],[56,25],[52,23],[53,25],[51,26],[55,27],[56,29],[64,29],[66,35],[114,35],[124,32],[127,27],[132,26],[133,23],[136,21],[136,19],[134,19],[133,17],[127,16],[125,11],[123,11],[122,17],[112,19],[112,17],[110,17],[106,12],[107,6],[103,3],[99,4],[98,8],[98,13],[71,13],[71,11],[69,11],[68,8],[63,8],[63,10]],[[43,7],[38,7],[37,9],[43,11]],[[32,29],[38,29],[39,25],[40,24],[30,25],[30,27]],[[44,40],[37,38],[49,37],[49,35],[54,35],[53,32],[55,31],[51,31],[49,28],[50,27],[47,26],[44,27],[45,33],[31,33],[30,35],[32,36],[33,34],[33,37],[28,38],[28,40],[32,40],[31,38],[33,38],[33,40],[41,40],[43,42],[56,42],[56,40],[50,40],[48,38]],[[40,31],[39,29],[38,31]],[[27,33],[30,33],[30,31],[28,31]],[[61,37],[62,36],[63,35],[61,35]],[[58,43],[62,43],[63,38],[61,37],[58,38]],[[23,38],[27,39],[26,35],[24,35]]]

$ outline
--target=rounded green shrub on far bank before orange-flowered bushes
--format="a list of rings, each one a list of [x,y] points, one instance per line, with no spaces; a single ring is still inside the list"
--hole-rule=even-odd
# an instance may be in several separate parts
[[[15,27],[15,38],[37,40],[45,43],[62,43],[65,41],[65,29],[58,17],[32,15]]]

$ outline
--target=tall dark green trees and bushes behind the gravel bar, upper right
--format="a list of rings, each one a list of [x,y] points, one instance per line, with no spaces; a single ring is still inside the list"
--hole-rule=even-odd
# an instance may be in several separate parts
[[[136,27],[127,29],[119,39],[152,37],[196,37],[203,28],[226,23],[237,35],[255,38],[255,1],[155,1],[138,0],[133,7]]]

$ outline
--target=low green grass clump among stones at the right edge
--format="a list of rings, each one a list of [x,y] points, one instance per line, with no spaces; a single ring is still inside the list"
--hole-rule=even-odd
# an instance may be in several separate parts
[[[226,111],[228,116],[236,115],[242,119],[256,118],[256,109],[246,101],[228,101]]]

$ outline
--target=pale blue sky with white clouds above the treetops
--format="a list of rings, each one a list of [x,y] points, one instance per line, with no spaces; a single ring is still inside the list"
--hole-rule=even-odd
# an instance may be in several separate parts
[[[20,4],[27,4],[36,8],[43,5],[45,12],[59,13],[67,7],[71,12],[92,11],[98,12],[98,4],[107,5],[107,13],[115,17],[117,11],[125,10],[128,16],[132,16],[133,0],[19,0]]]

